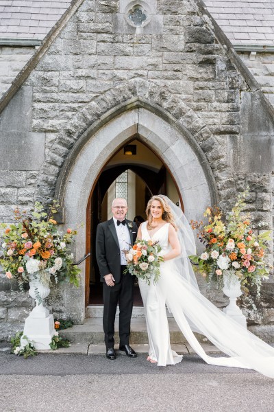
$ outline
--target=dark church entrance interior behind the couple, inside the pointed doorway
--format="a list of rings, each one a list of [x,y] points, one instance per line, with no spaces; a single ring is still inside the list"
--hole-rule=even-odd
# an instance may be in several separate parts
[[[136,142],[135,140],[134,142]],[[140,152],[145,146],[139,143],[137,150]],[[121,159],[121,156],[115,161],[109,161],[105,168],[103,168],[99,179],[90,196],[87,210],[87,253],[90,251],[90,258],[86,262],[86,304],[87,305],[102,305],[102,284],[100,282],[99,269],[96,262],[95,248],[96,248],[96,229],[97,225],[104,220],[110,218],[110,204],[106,201],[108,196],[115,197],[115,193],[110,192],[110,187],[113,187],[116,181],[126,170],[131,171],[136,177],[136,215],[142,216],[145,220],[145,208],[149,198],[154,194],[167,194],[169,186],[172,185],[170,175],[165,165],[157,158],[158,164],[155,167],[155,155],[146,146],[146,151],[151,152],[151,164],[147,153],[144,154],[143,161],[136,163],[136,158],[126,156]],[[121,149],[120,149],[121,151]],[[146,159],[145,159],[146,158]],[[122,161],[121,161],[122,160]],[[135,160],[135,163],[134,163]],[[142,162],[142,163],[141,163]],[[118,164],[115,164],[118,163]],[[137,181],[139,184],[137,185]],[[174,185],[174,183],[173,183]],[[138,192],[138,193],[137,193]],[[173,188],[174,192],[174,188]],[[175,190],[177,192],[177,190]],[[176,196],[176,193],[175,193]],[[111,200],[112,200],[111,198]],[[179,198],[179,197],[178,197]],[[130,210],[128,212],[128,215]],[[134,216],[128,216],[133,219]],[[140,290],[138,282],[134,288],[134,306],[142,306],[142,299],[140,297]]]

